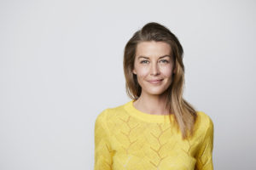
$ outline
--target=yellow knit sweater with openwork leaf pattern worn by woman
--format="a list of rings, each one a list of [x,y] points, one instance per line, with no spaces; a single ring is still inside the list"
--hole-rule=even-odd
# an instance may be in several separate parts
[[[94,170],[212,170],[213,123],[197,111],[195,134],[183,140],[167,115],[138,111],[133,100],[95,122]]]

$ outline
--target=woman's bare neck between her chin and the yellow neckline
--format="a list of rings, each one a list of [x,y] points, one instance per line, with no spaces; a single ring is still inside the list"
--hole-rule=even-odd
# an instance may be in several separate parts
[[[166,109],[166,94],[147,95],[142,94],[136,101],[133,102],[134,107],[148,114],[153,115],[168,115]]]

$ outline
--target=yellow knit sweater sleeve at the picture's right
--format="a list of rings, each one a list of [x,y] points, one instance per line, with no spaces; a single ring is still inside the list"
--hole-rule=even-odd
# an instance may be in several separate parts
[[[197,161],[196,168],[197,170],[213,170],[212,163],[212,150],[213,150],[213,123],[212,119],[208,117],[206,126],[206,133],[204,139],[201,143]]]

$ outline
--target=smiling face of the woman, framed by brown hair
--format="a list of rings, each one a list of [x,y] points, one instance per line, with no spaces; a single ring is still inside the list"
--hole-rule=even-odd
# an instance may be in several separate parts
[[[166,42],[139,42],[134,70],[142,95],[163,94],[172,83],[174,63],[171,46]]]

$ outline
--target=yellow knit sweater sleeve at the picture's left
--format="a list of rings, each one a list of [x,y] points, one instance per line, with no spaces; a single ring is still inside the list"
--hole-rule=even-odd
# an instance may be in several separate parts
[[[94,170],[112,169],[112,150],[109,140],[108,127],[106,126],[105,113],[97,116],[95,122],[95,163]]]

